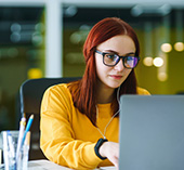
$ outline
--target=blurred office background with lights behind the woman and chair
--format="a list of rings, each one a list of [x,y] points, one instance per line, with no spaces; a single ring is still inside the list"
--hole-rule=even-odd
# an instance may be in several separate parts
[[[139,86],[152,94],[184,93],[183,0],[1,0],[0,131],[18,127],[25,80],[82,76],[88,32],[113,16],[129,23],[140,39]]]

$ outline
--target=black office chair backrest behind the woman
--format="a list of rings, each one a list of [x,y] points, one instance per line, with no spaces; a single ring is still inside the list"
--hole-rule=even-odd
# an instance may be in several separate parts
[[[30,152],[29,160],[45,159],[43,153],[40,149],[40,105],[44,91],[57,83],[67,83],[80,79],[79,77],[68,78],[40,78],[29,79],[23,82],[19,88],[19,109],[21,117],[26,116],[28,120],[29,116],[34,114],[34,121],[30,128]]]

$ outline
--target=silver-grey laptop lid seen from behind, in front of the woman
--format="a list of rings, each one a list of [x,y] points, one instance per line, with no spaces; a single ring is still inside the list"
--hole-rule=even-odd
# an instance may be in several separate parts
[[[184,170],[184,95],[123,95],[120,107],[120,170]]]

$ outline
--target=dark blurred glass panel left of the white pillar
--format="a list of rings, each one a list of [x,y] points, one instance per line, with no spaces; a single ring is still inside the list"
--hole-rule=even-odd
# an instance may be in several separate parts
[[[0,131],[19,118],[21,84],[44,75],[44,29],[43,8],[0,8]]]

